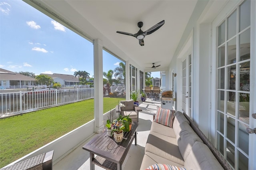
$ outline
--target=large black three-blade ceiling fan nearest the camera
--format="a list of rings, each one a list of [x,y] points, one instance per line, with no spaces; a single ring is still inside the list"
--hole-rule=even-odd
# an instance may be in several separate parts
[[[121,31],[117,31],[117,33],[119,34],[125,34],[128,36],[133,36],[135,38],[137,38],[139,40],[139,44],[141,46],[144,45],[144,40],[143,38],[145,38],[146,35],[152,34],[153,32],[155,32],[156,30],[158,30],[161,26],[164,25],[164,20],[162,20],[161,22],[159,22],[158,24],[152,26],[150,29],[146,30],[145,32],[143,32],[141,30],[142,26],[143,26],[143,22],[138,22],[138,27],[140,28],[140,30],[136,33],[136,34],[131,34],[128,32],[121,32]]]

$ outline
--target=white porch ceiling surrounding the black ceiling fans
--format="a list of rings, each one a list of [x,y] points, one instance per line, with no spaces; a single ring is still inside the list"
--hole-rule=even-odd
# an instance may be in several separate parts
[[[150,71],[165,71],[180,42],[196,0],[48,0],[40,6],[58,15],[82,34],[99,38],[106,49],[135,66]],[[57,20],[57,19],[56,19]],[[158,22],[165,24],[144,38],[140,46],[136,38],[116,31],[135,34],[142,21],[146,31]],[[61,21],[59,21],[61,22]],[[64,24],[65,25],[65,24]],[[149,69],[161,65],[157,69]]]

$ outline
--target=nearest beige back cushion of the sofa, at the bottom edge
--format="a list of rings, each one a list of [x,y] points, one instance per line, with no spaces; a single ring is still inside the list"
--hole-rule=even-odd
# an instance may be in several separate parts
[[[184,166],[193,170],[223,170],[208,146],[201,142],[193,144],[192,150],[184,162]]]

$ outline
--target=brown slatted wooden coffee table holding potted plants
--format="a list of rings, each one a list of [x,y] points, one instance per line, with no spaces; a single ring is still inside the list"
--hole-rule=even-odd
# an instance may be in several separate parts
[[[107,132],[98,134],[83,146],[84,150],[90,152],[90,169],[94,170],[94,164],[113,170],[121,170],[125,157],[130,149],[133,139],[137,145],[136,133],[138,123],[133,122],[132,130],[124,132],[122,142],[115,142],[114,135],[109,137]],[[94,157],[94,154],[97,156]]]

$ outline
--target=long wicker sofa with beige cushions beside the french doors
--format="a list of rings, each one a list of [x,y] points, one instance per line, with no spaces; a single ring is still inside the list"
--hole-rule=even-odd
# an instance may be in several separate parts
[[[153,166],[231,170],[218,150],[185,114],[176,112],[172,127],[152,122],[140,170]]]

